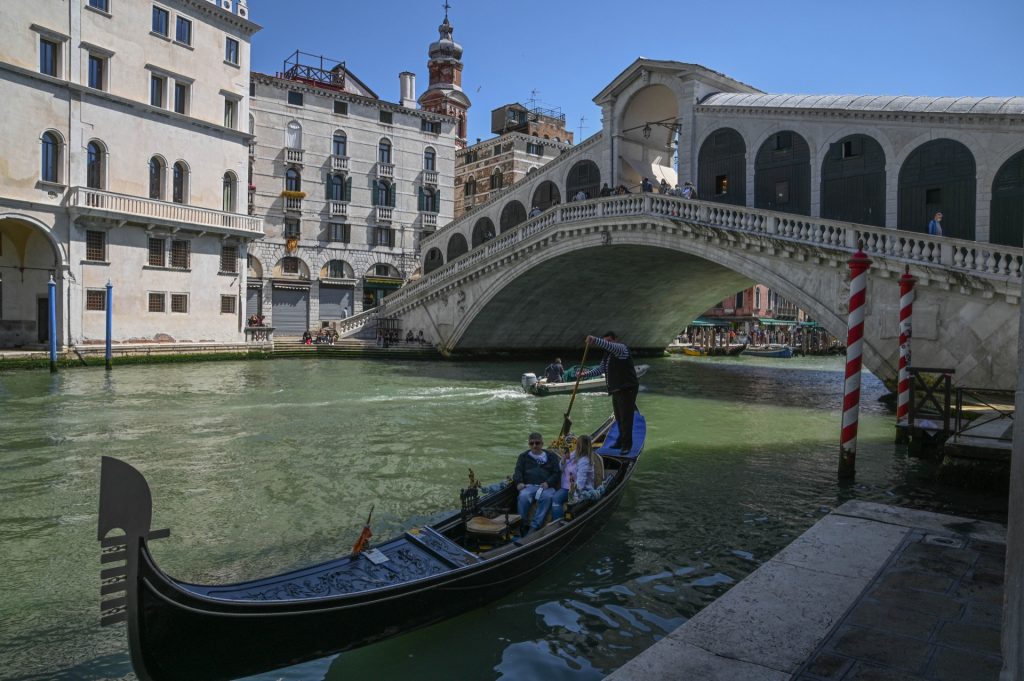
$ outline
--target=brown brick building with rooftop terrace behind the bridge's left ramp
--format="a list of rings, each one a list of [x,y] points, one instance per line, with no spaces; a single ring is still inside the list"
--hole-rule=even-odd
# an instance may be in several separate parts
[[[494,110],[490,131],[498,136],[477,140],[456,153],[456,218],[486,203],[492,191],[512,185],[572,145],[564,114],[526,109],[520,103]],[[547,197],[545,202],[555,199]]]

